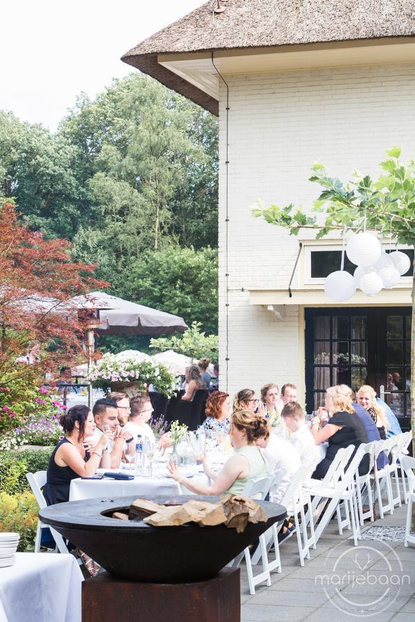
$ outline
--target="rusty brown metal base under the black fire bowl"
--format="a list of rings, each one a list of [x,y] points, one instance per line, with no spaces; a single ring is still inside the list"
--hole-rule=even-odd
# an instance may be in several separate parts
[[[239,568],[198,583],[137,583],[108,572],[82,583],[82,622],[240,622]]]

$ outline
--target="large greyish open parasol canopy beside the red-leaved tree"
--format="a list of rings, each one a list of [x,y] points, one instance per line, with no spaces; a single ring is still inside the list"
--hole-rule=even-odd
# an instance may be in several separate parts
[[[77,309],[100,309],[100,334],[172,334],[184,332],[183,317],[117,298],[104,292],[75,296],[69,303]]]

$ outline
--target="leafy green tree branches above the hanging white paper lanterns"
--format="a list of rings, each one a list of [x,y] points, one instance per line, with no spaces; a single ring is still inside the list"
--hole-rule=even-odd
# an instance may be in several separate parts
[[[377,229],[385,236],[392,235],[401,244],[415,244],[415,160],[400,164],[401,149],[387,151],[387,160],[380,163],[386,173],[374,182],[369,176],[355,171],[353,180],[344,184],[329,177],[323,164],[313,166],[310,181],[324,189],[313,204],[317,216],[308,216],[293,204],[286,207],[271,205],[264,209],[262,202],[252,209],[252,216],[267,223],[286,227],[292,235],[299,229],[317,229],[317,239],[335,229],[359,231],[365,226]]]

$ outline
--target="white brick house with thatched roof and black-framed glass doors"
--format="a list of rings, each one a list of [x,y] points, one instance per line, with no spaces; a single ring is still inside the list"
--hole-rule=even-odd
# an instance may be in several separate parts
[[[312,410],[324,384],[368,381],[394,390],[387,399],[408,416],[409,273],[393,290],[358,292],[336,307],[322,283],[340,255],[319,262],[315,253],[339,242],[288,236],[252,218],[250,205],[311,207],[320,189],[308,181],[315,160],[347,180],[355,167],[378,176],[396,144],[414,157],[412,2],[229,0],[217,15],[216,5],[124,60],[219,114],[222,388],[291,381]]]

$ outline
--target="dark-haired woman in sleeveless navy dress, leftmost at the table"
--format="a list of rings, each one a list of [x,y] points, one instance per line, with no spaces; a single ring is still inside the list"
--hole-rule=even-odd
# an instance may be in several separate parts
[[[85,439],[93,435],[95,422],[88,406],[72,406],[59,419],[65,437],[59,440],[49,459],[44,498],[48,505],[69,500],[71,481],[90,478],[100,466],[102,451],[111,433],[102,434],[91,455],[85,449]]]

